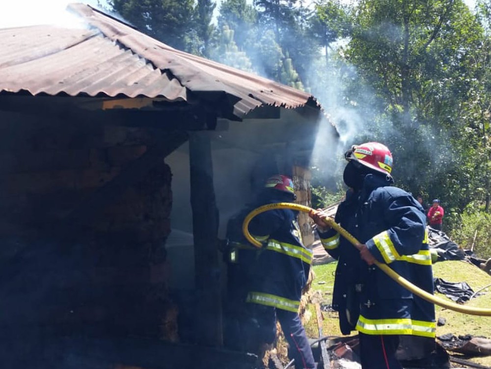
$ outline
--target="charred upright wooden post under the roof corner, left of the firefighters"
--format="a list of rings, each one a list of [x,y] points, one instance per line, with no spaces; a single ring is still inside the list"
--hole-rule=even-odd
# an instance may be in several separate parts
[[[207,132],[192,132],[189,140],[191,209],[198,306],[197,342],[222,345],[218,208],[213,186],[213,163]]]

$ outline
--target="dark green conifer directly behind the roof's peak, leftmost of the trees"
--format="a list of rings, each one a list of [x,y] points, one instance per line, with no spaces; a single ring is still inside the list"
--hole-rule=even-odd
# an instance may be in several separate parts
[[[142,32],[179,50],[188,50],[194,0],[109,0],[112,10]]]

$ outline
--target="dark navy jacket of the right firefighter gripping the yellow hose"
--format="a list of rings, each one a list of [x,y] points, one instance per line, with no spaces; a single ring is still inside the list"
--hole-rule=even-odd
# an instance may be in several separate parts
[[[406,191],[367,175],[358,193],[348,192],[335,220],[381,263],[433,293],[431,255],[423,208]],[[338,259],[333,308],[344,334],[407,334],[435,337],[435,307],[412,294],[334,230],[320,234],[327,252]]]

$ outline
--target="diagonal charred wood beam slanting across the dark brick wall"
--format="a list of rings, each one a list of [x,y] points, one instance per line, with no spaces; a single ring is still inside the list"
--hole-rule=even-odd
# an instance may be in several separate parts
[[[166,134],[164,137],[157,137],[157,144],[150,146],[143,155],[123,167],[115,178],[98,188],[88,198],[82,199],[81,203],[65,217],[62,229],[65,228],[71,232],[74,227],[112,203],[129,186],[140,181],[146,173],[162,162],[167,155],[171,154],[187,139],[188,133],[181,131]]]

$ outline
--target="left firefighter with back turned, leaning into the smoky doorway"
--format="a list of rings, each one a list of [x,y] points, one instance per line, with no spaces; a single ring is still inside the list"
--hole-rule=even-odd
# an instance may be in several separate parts
[[[259,346],[274,342],[277,319],[295,367],[310,369],[315,368],[314,358],[298,310],[312,252],[302,244],[298,212],[272,210],[254,217],[249,231],[263,244],[261,248],[251,245],[242,233],[242,222],[250,211],[295,198],[292,180],[283,175],[273,176],[256,202],[229,221],[226,320],[231,336],[238,342],[244,340],[245,350],[260,353]]]

